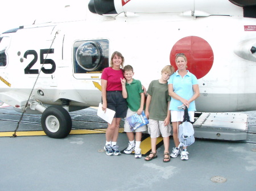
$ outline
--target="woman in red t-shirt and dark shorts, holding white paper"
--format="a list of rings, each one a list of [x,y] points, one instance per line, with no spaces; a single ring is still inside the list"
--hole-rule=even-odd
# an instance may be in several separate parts
[[[120,78],[123,79],[124,61],[125,58],[122,54],[115,51],[111,57],[110,67],[106,67],[101,75],[102,110],[105,111],[106,108],[109,108],[115,111],[112,124],[108,124],[106,130],[106,145],[104,148],[109,156],[121,155],[117,146],[117,138],[121,118],[126,117],[127,112],[127,103],[122,96],[120,80]]]

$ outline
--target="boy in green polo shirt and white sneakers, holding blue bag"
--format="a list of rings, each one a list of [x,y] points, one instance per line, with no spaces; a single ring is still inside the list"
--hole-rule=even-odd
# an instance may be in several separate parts
[[[123,98],[127,101],[128,111],[127,117],[132,116],[133,114],[141,114],[144,107],[145,95],[142,90],[141,81],[133,79],[133,67],[130,65],[126,65],[123,68],[123,75],[125,79],[121,79],[122,83],[122,94]],[[135,142],[134,142],[134,132],[131,131],[127,120],[125,120],[125,132],[129,139],[129,145],[126,148],[125,154],[131,154],[131,152],[135,151],[135,158],[141,158],[141,137],[142,132],[147,130],[147,126],[144,125],[138,129],[135,129]]]

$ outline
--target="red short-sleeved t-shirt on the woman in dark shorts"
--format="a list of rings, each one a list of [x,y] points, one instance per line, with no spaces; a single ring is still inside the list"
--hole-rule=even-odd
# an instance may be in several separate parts
[[[123,79],[123,70],[114,70],[112,67],[106,67],[101,75],[101,79],[108,81],[106,91],[122,91],[120,78]]]

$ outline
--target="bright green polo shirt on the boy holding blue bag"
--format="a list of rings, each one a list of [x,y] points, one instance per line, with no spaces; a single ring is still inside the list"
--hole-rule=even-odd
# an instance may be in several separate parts
[[[141,107],[141,93],[142,84],[140,80],[133,79],[133,82],[125,84],[125,88],[127,91],[127,105],[133,112],[137,112]]]

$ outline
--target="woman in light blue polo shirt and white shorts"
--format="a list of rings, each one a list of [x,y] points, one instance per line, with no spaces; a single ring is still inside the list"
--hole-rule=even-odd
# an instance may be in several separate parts
[[[188,152],[184,147],[183,151],[179,148],[179,138],[177,129],[183,121],[184,110],[178,109],[180,105],[188,107],[190,121],[194,121],[194,113],[196,111],[195,99],[200,96],[199,86],[195,75],[187,70],[187,57],[183,53],[179,53],[175,58],[177,71],[172,74],[168,80],[168,91],[171,96],[170,110],[172,131],[175,147],[172,150],[171,157],[176,158],[180,154],[181,160],[188,160]]]

